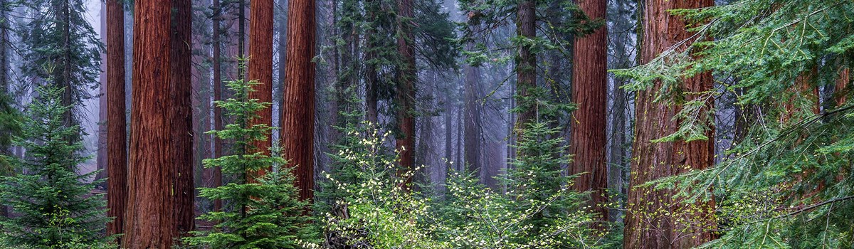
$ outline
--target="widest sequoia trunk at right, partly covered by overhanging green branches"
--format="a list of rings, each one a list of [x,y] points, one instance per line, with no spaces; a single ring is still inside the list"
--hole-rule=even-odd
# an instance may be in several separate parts
[[[654,60],[664,50],[693,35],[686,31],[685,20],[668,10],[696,9],[713,4],[712,0],[646,1],[641,63]],[[679,126],[672,119],[680,107],[655,101],[661,87],[661,83],[656,83],[652,89],[637,93],[634,158],[623,248],[690,248],[712,239],[714,202],[687,206],[672,197],[675,190],[635,188],[644,182],[675,176],[690,169],[705,169],[714,164],[715,147],[711,140],[650,142],[676,132]],[[686,92],[710,90],[711,73],[685,78],[682,87]],[[696,96],[688,95],[686,98],[690,101]],[[712,102],[709,101],[701,112],[708,112],[711,107]],[[714,137],[713,133],[710,130],[705,135]]]

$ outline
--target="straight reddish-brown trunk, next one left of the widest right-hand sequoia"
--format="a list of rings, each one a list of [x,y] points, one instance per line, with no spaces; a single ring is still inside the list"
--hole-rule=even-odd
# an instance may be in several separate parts
[[[578,6],[591,20],[605,19],[606,0],[579,0]],[[574,162],[570,174],[579,176],[573,187],[590,191],[598,218],[607,220],[608,167],[605,165],[605,114],[607,113],[608,30],[576,39],[572,49],[572,98],[578,110],[572,113],[570,149]]]

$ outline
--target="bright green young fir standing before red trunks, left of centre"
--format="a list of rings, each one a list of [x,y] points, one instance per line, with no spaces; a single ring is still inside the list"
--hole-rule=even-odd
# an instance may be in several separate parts
[[[201,188],[199,196],[222,200],[225,206],[221,211],[199,217],[216,225],[211,231],[194,232],[195,237],[184,239],[192,246],[294,248],[298,239],[303,238],[303,225],[308,220],[301,214],[307,204],[298,199],[295,177],[285,166],[285,159],[253,147],[254,142],[266,139],[273,129],[266,124],[249,125],[251,119],[258,118],[258,111],[270,105],[249,99],[254,84],[241,79],[228,82],[226,85],[234,96],[226,101],[215,101],[234,123],[225,125],[225,130],[208,133],[234,141],[234,146],[230,155],[205,159],[203,163],[205,167],[219,167],[223,174],[235,177],[224,186]],[[250,153],[253,151],[256,153]],[[261,170],[266,174],[249,174]]]

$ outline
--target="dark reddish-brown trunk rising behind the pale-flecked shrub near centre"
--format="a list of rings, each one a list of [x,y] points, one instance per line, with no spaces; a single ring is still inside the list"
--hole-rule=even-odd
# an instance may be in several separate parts
[[[401,168],[413,169],[413,150],[415,149],[415,118],[412,108],[415,101],[415,47],[412,35],[412,17],[414,17],[414,2],[412,0],[397,0],[397,52],[401,55],[401,65],[397,72],[397,125],[400,134],[395,141],[395,147],[400,153]],[[407,178],[405,184],[412,182]]]

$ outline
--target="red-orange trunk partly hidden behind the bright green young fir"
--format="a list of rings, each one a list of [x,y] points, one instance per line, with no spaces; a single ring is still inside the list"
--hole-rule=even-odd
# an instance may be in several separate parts
[[[249,99],[257,99],[260,102],[272,102],[272,0],[254,0],[249,3],[252,15],[249,16],[249,80],[257,80],[258,84],[252,86],[254,91],[249,92]],[[257,113],[258,119],[252,119],[249,126],[267,125],[272,126],[272,107],[266,107]],[[266,135],[265,140],[252,143],[256,149],[249,153],[269,154],[272,147],[272,136]],[[251,173],[249,172],[252,176]],[[257,176],[264,171],[254,172]],[[249,178],[250,180],[253,177]]]

